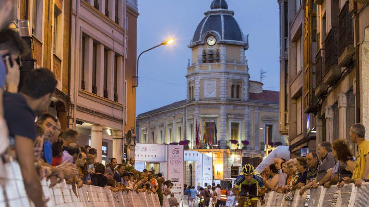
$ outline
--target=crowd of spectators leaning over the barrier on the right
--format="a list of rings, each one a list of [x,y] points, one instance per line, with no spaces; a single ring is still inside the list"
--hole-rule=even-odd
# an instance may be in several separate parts
[[[263,182],[267,190],[284,193],[286,200],[292,200],[296,190],[302,195],[318,186],[355,183],[359,187],[369,181],[369,141],[364,137],[365,127],[357,123],[349,131],[349,140],[323,141],[318,144],[317,154],[309,152],[289,160],[276,158],[261,172]],[[351,144],[358,146],[356,156]]]

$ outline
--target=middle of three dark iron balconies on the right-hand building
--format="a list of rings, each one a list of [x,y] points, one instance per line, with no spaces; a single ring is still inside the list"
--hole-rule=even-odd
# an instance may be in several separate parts
[[[324,40],[324,83],[330,85],[339,78],[338,66],[338,27],[332,27]]]

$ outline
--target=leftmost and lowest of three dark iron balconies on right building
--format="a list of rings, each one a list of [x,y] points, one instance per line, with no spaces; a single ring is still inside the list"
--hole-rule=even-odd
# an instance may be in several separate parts
[[[321,97],[327,92],[327,85],[324,84],[324,49],[320,49],[315,56],[315,96]]]

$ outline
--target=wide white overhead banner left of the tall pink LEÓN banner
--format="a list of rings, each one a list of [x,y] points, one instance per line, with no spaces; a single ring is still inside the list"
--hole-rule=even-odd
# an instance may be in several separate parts
[[[137,143],[135,146],[135,161],[137,162],[164,162],[164,144],[143,144]]]

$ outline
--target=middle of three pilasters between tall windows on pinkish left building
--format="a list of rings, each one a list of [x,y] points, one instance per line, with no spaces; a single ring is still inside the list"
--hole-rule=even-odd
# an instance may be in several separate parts
[[[105,46],[99,44],[96,47],[96,86],[97,95],[104,96],[104,50]],[[109,82],[109,81],[108,81]]]

